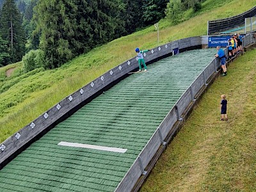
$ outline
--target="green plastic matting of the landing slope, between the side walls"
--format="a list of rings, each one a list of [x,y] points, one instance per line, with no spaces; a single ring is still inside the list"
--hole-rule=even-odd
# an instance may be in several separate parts
[[[132,74],[35,141],[0,171],[0,191],[115,191],[164,117],[213,60],[182,52]],[[127,149],[67,147],[61,141]]]

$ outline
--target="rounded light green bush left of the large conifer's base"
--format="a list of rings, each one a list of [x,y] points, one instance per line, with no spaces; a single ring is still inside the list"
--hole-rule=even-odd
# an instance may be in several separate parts
[[[41,49],[31,50],[23,56],[24,72],[29,72],[35,68],[44,66],[45,61],[44,51]]]

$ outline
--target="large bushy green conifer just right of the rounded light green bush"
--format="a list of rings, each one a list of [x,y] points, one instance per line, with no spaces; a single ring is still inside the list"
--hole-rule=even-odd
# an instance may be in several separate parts
[[[73,6],[70,1],[70,6]],[[76,10],[76,6],[73,6]],[[39,0],[35,7],[37,31],[41,31],[40,48],[45,52],[45,68],[60,67],[73,58],[68,40],[74,35],[74,20],[68,18],[65,1]]]

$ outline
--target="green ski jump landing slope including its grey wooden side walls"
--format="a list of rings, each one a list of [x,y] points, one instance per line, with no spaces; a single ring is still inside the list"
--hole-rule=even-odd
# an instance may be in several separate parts
[[[148,72],[129,76],[136,58],[121,63],[1,143],[1,191],[138,191],[219,74],[202,40],[152,49]]]

